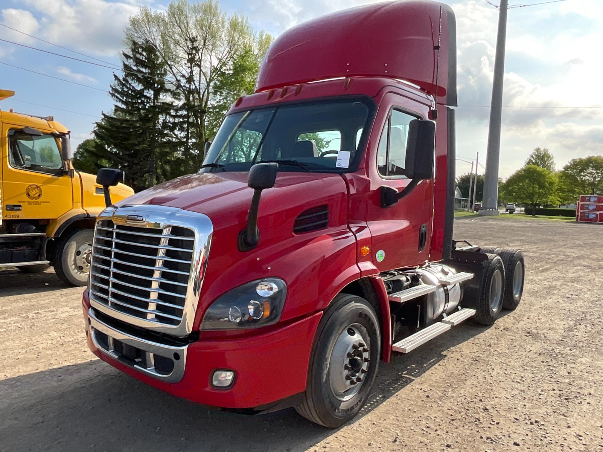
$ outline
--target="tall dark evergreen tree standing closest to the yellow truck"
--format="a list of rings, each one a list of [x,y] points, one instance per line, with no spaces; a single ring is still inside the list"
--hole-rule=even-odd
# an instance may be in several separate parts
[[[165,63],[149,42],[130,41],[122,52],[121,75],[113,75],[113,113],[103,113],[94,135],[107,160],[125,171],[134,189],[152,187],[178,175],[182,155],[172,121],[178,94],[166,81]]]

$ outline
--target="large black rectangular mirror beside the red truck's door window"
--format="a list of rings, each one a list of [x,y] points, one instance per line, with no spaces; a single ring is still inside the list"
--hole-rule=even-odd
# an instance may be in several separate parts
[[[410,179],[434,177],[435,122],[413,119],[408,125],[404,174]],[[454,163],[452,163],[453,165]]]

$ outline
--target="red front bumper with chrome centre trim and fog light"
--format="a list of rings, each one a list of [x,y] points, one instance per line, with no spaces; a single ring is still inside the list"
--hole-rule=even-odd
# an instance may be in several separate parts
[[[209,406],[249,409],[273,404],[306,389],[308,363],[321,312],[270,333],[200,340],[176,347],[134,337],[107,325],[94,315],[86,295],[82,309],[92,353],[169,394]],[[122,344],[137,353],[128,353]],[[233,385],[226,389],[213,387],[211,378],[216,369],[235,371]]]

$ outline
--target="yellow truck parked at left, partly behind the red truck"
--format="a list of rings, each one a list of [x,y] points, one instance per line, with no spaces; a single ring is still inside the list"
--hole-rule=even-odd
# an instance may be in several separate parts
[[[0,90],[0,101],[12,95]],[[0,111],[0,133],[0,268],[52,265],[66,283],[86,285],[103,187],[75,171],[69,131],[52,116]],[[111,187],[113,202],[132,193],[124,184]]]

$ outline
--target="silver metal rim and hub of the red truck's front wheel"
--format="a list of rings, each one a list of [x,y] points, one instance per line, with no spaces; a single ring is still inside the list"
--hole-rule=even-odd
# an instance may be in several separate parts
[[[335,341],[329,359],[329,384],[335,397],[349,400],[364,383],[370,364],[370,340],[362,325],[345,328]]]

